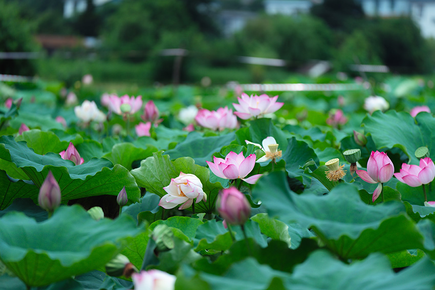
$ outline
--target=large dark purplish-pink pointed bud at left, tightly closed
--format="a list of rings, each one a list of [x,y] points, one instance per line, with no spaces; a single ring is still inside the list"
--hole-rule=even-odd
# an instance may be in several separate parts
[[[62,196],[60,194],[60,187],[51,171],[48,172],[47,177],[39,189],[38,203],[39,206],[46,211],[52,212],[60,205]]]

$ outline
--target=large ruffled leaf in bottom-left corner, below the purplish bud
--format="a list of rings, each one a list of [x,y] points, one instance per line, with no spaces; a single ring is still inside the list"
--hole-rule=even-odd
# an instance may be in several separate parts
[[[39,223],[13,212],[0,219],[0,259],[26,285],[42,286],[104,265],[139,232],[129,217],[96,221],[80,206]]]

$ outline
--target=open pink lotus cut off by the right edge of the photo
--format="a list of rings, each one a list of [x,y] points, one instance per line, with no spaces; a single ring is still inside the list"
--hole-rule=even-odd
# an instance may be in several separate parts
[[[429,157],[420,159],[420,165],[402,164],[400,172],[394,176],[410,187],[418,187],[430,183],[435,177],[435,165]]]

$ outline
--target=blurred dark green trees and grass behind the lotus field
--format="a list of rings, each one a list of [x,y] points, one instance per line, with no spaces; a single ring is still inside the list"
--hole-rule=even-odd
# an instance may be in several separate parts
[[[90,73],[97,82],[171,82],[177,56],[185,49],[180,81],[214,84],[289,81],[311,60],[328,60],[333,72],[351,73],[349,64],[385,64],[394,73],[433,72],[435,42],[424,39],[409,18],[364,16],[354,0],[324,0],[310,14],[268,15],[263,1],[114,0],[63,16],[63,1],[0,0],[0,52],[40,52],[34,60],[0,59],[0,73],[39,75],[72,83]],[[254,13],[245,27],[228,35],[219,15],[224,10]],[[55,50],[35,36],[95,37],[98,45]],[[82,43],[82,42],[79,42]],[[279,58],[285,68],[243,64],[238,56]],[[354,75],[356,75],[354,73]]]

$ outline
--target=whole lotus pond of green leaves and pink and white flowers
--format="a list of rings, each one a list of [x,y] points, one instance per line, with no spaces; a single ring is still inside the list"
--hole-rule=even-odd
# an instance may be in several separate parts
[[[433,289],[433,83],[245,93],[0,83],[0,289]]]

